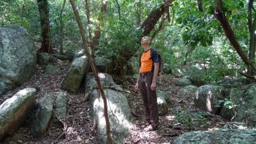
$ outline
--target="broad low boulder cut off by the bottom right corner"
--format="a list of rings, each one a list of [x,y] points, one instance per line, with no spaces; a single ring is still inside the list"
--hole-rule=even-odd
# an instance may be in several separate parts
[[[183,143],[244,143],[256,142],[255,130],[219,129],[216,131],[187,132],[174,140],[173,144]]]

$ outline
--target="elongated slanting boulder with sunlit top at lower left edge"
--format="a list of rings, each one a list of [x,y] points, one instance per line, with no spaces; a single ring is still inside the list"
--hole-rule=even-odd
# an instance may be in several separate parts
[[[25,88],[0,105],[0,140],[20,127],[35,105],[35,94],[35,88]]]

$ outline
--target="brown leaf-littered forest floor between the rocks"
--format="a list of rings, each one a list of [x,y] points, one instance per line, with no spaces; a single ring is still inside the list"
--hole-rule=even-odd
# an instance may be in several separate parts
[[[44,73],[43,67],[37,66],[36,74],[29,82],[0,97],[0,105],[4,100],[13,96],[23,88],[37,88],[36,99],[40,99],[46,93],[53,94],[53,99],[61,90],[61,81],[69,69],[69,61],[56,61],[54,65],[59,67],[59,72],[54,75]],[[217,115],[208,115],[193,107],[193,96],[181,94],[181,87],[175,83],[178,77],[173,75],[161,75],[158,88],[167,92],[170,96],[169,111],[167,115],[159,117],[159,129],[154,132],[143,131],[144,110],[140,94],[134,91],[135,81],[132,77],[114,77],[116,83],[124,90],[131,91],[127,94],[129,105],[135,115],[136,127],[131,129],[125,143],[172,143],[183,134],[195,130],[216,129],[223,126],[224,120]],[[53,106],[54,107],[54,106]],[[48,131],[41,137],[33,137],[29,132],[29,118],[12,137],[7,137],[0,143],[99,143],[93,128],[91,102],[80,92],[79,94],[67,93],[67,118],[59,122],[55,117],[50,123]],[[64,127],[65,125],[65,127]]]

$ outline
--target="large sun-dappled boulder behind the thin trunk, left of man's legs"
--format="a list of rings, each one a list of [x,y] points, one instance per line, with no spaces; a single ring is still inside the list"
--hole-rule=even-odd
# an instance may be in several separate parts
[[[127,97],[122,94],[122,89],[116,86],[113,78],[110,75],[99,73],[100,81],[105,87],[104,92],[108,104],[108,117],[110,120],[110,132],[115,143],[124,143],[125,138],[129,136],[129,129],[132,128],[132,113],[129,109]],[[109,80],[108,82],[106,82]],[[91,91],[91,103],[93,106],[94,126],[97,127],[97,134],[101,143],[108,143],[106,135],[106,123],[104,117],[104,104],[102,98],[99,98],[99,93],[94,77],[87,77],[87,86],[94,88]],[[93,82],[94,81],[94,82]],[[108,87],[108,88],[106,88]],[[110,89],[111,88],[111,89]],[[118,91],[116,90],[118,88]]]

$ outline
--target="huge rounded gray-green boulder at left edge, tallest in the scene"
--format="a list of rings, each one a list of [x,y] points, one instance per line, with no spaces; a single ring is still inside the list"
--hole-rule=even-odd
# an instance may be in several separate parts
[[[29,80],[34,75],[37,54],[26,29],[0,27],[0,95]]]

